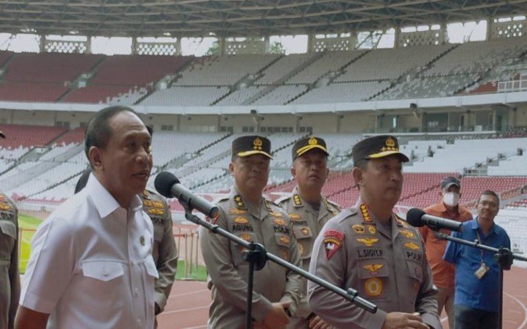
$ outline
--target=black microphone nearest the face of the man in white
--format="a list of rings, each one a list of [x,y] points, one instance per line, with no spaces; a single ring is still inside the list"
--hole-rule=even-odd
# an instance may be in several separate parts
[[[163,197],[175,197],[185,208],[190,207],[196,209],[211,218],[219,215],[218,207],[206,199],[194,195],[192,191],[180,184],[178,178],[173,173],[161,171],[154,180],[154,186]]]

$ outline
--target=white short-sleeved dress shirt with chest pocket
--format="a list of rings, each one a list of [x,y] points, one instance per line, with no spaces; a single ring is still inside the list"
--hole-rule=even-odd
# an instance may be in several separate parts
[[[154,328],[152,221],[94,175],[38,227],[20,304],[51,314],[47,328]]]

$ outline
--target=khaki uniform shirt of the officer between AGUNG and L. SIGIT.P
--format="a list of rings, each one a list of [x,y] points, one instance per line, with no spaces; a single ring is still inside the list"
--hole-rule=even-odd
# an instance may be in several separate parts
[[[289,214],[296,243],[298,243],[300,250],[302,268],[309,271],[309,260],[311,260],[316,236],[331,217],[338,215],[340,208],[337,204],[323,197],[320,202],[320,209],[314,210],[309,203],[302,199],[298,193],[298,187],[295,187],[290,195],[277,199],[276,202]],[[301,300],[296,315],[305,319],[311,314],[311,309],[307,301],[307,280],[303,279],[302,281]],[[302,328],[303,326],[307,326],[307,321],[300,321],[294,328]]]

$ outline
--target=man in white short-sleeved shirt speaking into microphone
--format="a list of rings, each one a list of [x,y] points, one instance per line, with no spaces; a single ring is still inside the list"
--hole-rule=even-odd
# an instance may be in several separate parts
[[[152,169],[151,136],[130,108],[91,119],[93,174],[32,240],[16,328],[154,328],[152,221],[138,194]]]

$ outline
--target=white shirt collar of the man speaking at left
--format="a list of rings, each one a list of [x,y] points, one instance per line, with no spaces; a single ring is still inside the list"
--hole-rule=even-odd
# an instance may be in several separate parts
[[[91,201],[93,201],[93,204],[95,205],[95,208],[97,209],[97,212],[99,212],[99,216],[101,218],[107,217],[115,210],[122,208],[115,197],[113,197],[113,195],[111,195],[110,192],[108,192],[108,190],[102,186],[93,173],[90,174],[84,190],[86,190],[86,193],[91,198]],[[143,203],[141,202],[141,199],[139,196],[134,195],[132,202],[130,202],[130,209],[136,212],[142,207]]]

